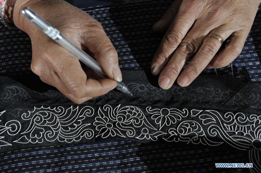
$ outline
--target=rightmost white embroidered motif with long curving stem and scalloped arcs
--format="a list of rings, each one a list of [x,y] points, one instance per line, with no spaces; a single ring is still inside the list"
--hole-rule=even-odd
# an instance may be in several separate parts
[[[218,135],[223,141],[240,150],[247,150],[251,146],[257,150],[261,149],[261,115],[246,117],[243,113],[228,112],[222,116],[217,111],[207,110],[198,117],[211,137]]]

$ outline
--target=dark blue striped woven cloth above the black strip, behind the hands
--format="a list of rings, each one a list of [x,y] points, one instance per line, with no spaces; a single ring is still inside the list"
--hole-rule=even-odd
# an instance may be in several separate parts
[[[146,1],[83,9],[99,21],[118,51],[122,69],[146,69],[163,34],[152,31],[172,1]],[[233,61],[233,74],[246,68],[252,81],[261,82],[261,10],[258,10],[242,53]],[[0,74],[31,73],[31,43],[27,34],[0,25]],[[203,74],[216,74],[214,69]],[[219,76],[232,75],[231,65],[217,69]]]

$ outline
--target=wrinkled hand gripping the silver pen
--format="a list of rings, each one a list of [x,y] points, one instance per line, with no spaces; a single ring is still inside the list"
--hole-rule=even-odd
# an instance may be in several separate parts
[[[86,75],[76,57],[19,14],[24,6],[32,8],[75,45],[93,55],[110,79],[100,79],[91,70],[86,71]],[[14,17],[14,23],[25,31],[32,41],[32,71],[43,82],[56,87],[73,102],[81,104],[93,97],[104,95],[116,87],[115,80],[122,80],[116,49],[102,25],[82,10],[62,0],[29,0],[18,5],[17,9],[14,6],[14,9],[14,16],[19,16]]]

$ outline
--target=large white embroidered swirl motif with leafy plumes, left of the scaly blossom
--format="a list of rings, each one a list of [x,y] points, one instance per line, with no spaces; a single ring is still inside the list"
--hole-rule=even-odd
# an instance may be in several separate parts
[[[85,106],[73,106],[66,110],[62,107],[34,108],[33,111],[22,114],[23,120],[29,120],[28,128],[22,132],[24,134],[19,139],[13,141],[17,143],[42,143],[44,141],[55,141],[71,143],[80,141],[82,137],[91,139],[94,136],[92,129],[88,128],[89,123],[83,123],[86,117],[91,117],[94,109]]]

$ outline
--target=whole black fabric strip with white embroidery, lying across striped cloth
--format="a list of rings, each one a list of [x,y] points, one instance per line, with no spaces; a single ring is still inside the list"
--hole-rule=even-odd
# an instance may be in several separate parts
[[[123,71],[134,97],[113,90],[81,105],[37,76],[1,77],[1,151],[104,139],[261,149],[261,86],[246,72],[169,90],[149,74]]]

